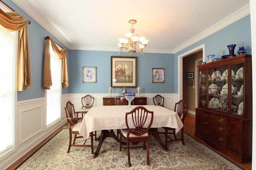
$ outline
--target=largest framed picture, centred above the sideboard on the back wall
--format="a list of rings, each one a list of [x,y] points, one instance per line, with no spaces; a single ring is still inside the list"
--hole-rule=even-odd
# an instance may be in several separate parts
[[[111,56],[111,86],[137,87],[137,57]]]

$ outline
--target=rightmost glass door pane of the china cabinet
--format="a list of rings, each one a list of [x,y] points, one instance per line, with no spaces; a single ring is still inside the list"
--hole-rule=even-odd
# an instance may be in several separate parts
[[[231,114],[243,115],[244,112],[244,73],[243,64],[232,65],[232,104]]]

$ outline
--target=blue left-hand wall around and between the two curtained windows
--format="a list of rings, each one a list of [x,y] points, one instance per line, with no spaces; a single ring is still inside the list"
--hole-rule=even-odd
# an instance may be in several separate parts
[[[18,92],[18,101],[42,98],[45,96],[45,90],[42,88],[43,66],[44,66],[44,48],[45,37],[48,35],[63,48],[67,49],[60,41],[54,38],[46,29],[33,20],[28,14],[21,10],[11,0],[4,0],[4,2],[12,9],[22,14],[31,23],[28,25],[28,37],[30,45],[30,62],[31,62],[31,88]],[[68,56],[69,56],[68,52]],[[67,57],[68,57],[67,56]],[[69,57],[68,57],[69,58]],[[68,94],[68,88],[62,90],[62,94]]]

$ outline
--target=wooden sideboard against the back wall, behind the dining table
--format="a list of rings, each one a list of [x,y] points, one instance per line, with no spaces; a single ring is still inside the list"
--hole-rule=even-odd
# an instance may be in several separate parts
[[[117,102],[119,102],[121,100],[121,98],[120,97],[103,97],[103,105],[104,106],[117,105]],[[135,97],[134,105],[147,105],[147,98],[146,97]]]

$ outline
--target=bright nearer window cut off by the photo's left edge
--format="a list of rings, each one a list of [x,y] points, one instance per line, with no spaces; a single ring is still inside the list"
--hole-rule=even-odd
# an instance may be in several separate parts
[[[16,32],[0,26],[0,155],[14,148],[14,111],[16,93]]]

